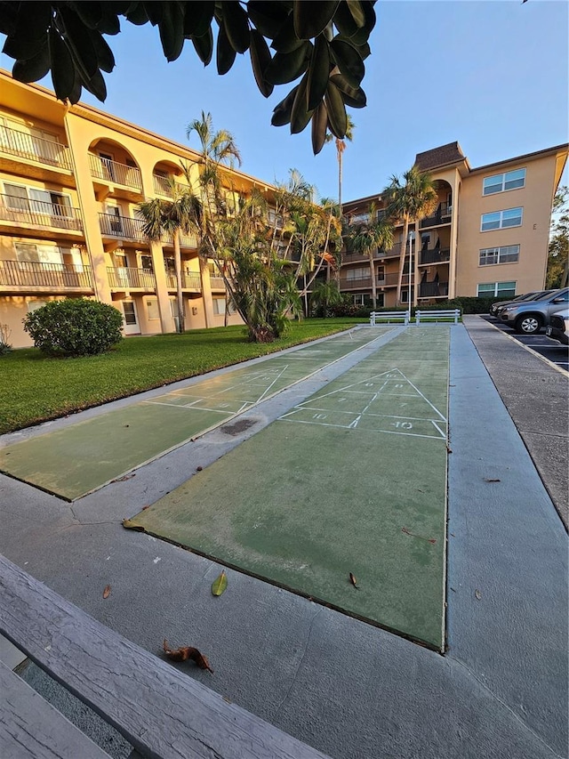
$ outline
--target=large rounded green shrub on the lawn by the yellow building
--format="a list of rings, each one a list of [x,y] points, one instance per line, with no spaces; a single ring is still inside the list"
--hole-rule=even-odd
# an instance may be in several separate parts
[[[107,303],[68,298],[46,303],[24,319],[36,348],[48,356],[92,356],[122,340],[123,317]]]

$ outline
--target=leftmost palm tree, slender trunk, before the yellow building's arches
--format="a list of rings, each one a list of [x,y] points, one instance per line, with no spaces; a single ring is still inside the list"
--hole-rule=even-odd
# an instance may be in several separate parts
[[[178,304],[178,332],[184,331],[184,300],[181,290],[180,235],[199,228],[202,206],[189,188],[180,188],[172,178],[169,181],[171,200],[152,198],[138,206],[144,220],[142,233],[149,239],[160,242],[164,235],[171,235],[174,247],[174,267],[176,270],[176,302]]]

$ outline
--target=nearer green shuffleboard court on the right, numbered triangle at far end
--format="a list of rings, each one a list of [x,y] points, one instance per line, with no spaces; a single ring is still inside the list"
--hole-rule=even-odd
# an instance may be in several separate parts
[[[442,650],[450,328],[408,328],[130,523]]]

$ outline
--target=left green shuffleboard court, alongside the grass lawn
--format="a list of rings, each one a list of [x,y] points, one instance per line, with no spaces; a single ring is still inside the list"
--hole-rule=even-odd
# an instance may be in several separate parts
[[[72,501],[389,331],[359,329],[0,448],[0,472]]]

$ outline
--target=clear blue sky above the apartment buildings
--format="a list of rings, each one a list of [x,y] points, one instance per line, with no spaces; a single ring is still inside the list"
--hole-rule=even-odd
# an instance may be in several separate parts
[[[568,141],[566,0],[378,0],[375,12],[362,83],[367,106],[348,109],[356,129],[343,157],[344,202],[380,193],[416,153],[447,142],[458,141],[477,167]],[[107,39],[116,58],[104,75],[107,100],[84,91],[82,101],[194,149],[197,136],[188,140],[186,127],[209,111],[215,129],[233,134],[246,174],[286,182],[294,168],[321,198],[338,197],[334,143],[314,156],[309,127],[291,134],[270,125],[293,84],[263,98],[248,52],[220,77],[215,56],[204,67],[189,41],[167,63],[149,24],[124,20]],[[0,68],[12,64],[0,54]],[[51,78],[41,84],[51,87]]]

